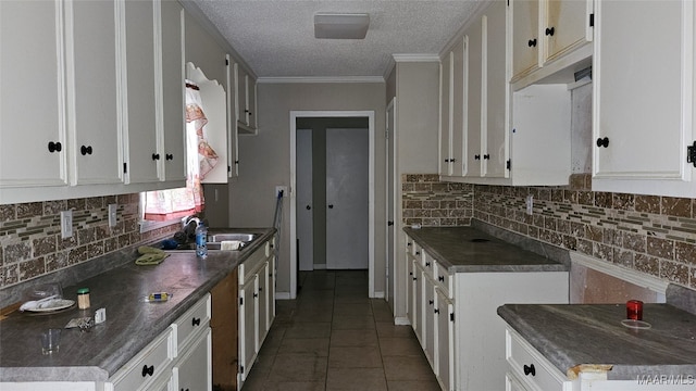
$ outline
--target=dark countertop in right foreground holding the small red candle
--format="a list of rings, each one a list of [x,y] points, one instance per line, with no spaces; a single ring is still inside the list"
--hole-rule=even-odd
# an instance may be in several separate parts
[[[623,326],[625,304],[506,304],[502,317],[570,379],[607,370],[610,380],[696,376],[696,315],[670,304],[644,305],[649,329]]]

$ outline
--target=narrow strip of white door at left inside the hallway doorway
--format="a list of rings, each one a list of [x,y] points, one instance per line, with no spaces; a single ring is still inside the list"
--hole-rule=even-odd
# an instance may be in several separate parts
[[[297,240],[300,270],[314,269],[312,130],[297,129]]]

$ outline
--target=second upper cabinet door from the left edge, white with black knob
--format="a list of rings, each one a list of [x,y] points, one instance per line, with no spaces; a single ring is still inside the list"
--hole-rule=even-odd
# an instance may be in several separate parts
[[[73,185],[117,184],[123,152],[115,1],[66,2]],[[72,54],[70,53],[72,51]]]

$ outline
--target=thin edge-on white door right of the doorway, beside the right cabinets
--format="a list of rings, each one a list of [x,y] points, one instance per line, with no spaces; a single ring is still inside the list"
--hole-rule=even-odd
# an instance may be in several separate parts
[[[395,176],[396,176],[396,167],[394,166],[394,143],[395,143],[395,137],[396,137],[396,127],[395,127],[395,112],[396,112],[396,98],[394,98],[391,100],[391,102],[389,103],[389,105],[387,106],[387,121],[386,121],[386,125],[387,125],[387,161],[386,161],[386,173],[387,173],[387,245],[386,245],[386,260],[387,260],[387,278],[386,278],[386,286],[385,286],[385,290],[384,290],[384,299],[389,303],[389,306],[391,307],[391,311],[394,311],[394,300],[391,299],[393,294],[391,293],[396,293],[395,289],[395,285],[396,285],[396,273],[394,272],[394,256],[395,256],[395,249],[394,249],[394,243],[396,241],[396,238],[394,237],[394,216],[396,215],[396,213],[394,212],[394,205],[395,205],[395,200],[394,198],[396,197],[396,184],[395,184]],[[394,290],[394,292],[393,292]],[[394,294],[394,298],[396,298],[396,294]]]

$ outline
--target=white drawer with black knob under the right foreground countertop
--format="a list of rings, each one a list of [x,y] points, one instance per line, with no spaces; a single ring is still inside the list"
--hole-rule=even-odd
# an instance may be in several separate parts
[[[531,390],[571,390],[572,383],[517,332],[506,329],[509,370]]]

